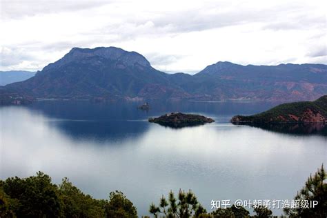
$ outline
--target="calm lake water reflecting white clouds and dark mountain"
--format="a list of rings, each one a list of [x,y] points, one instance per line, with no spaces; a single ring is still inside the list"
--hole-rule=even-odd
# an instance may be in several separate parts
[[[121,190],[148,215],[153,201],[191,189],[208,211],[212,199],[293,199],[327,162],[325,135],[235,126],[271,103],[39,101],[0,108],[0,179],[41,170],[96,198]],[[148,123],[166,112],[194,112],[215,123],[172,129]],[[281,210],[274,210],[281,215]]]

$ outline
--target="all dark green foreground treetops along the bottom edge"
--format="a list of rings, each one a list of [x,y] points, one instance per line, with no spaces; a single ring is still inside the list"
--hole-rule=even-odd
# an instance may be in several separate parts
[[[299,201],[317,201],[314,208],[286,209],[289,217],[326,217],[327,184],[324,166],[314,176],[310,175],[304,188],[295,197]],[[150,213],[155,217],[251,217],[245,208],[218,208],[207,213],[197,197],[189,190],[179,190],[176,198],[170,191],[168,200],[161,197],[159,206],[150,205]],[[272,217],[268,208],[254,208],[252,217]],[[0,217],[112,217],[136,218],[137,208],[122,192],[110,192],[108,200],[93,199],[64,178],[59,186],[52,184],[51,178],[43,172],[36,176],[20,179],[12,177],[0,180]]]

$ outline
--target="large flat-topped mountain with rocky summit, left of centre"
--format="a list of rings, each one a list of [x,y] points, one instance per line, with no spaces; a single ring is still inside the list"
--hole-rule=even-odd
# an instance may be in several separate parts
[[[39,98],[169,98],[186,95],[166,73],[152,68],[141,54],[115,47],[72,48],[59,61],[37,72],[35,77],[12,83],[6,89]]]

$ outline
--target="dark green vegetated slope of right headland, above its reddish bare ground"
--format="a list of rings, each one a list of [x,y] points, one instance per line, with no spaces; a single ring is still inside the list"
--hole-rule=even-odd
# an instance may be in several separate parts
[[[295,115],[301,117],[306,110],[312,110],[313,112],[319,112],[324,117],[327,117],[327,95],[320,97],[316,101],[301,101],[294,103],[284,103],[275,108],[261,112],[252,116],[238,116],[243,122],[254,123],[268,123],[268,122],[287,122],[294,121],[290,119],[288,115]],[[288,119],[285,121],[280,116]]]

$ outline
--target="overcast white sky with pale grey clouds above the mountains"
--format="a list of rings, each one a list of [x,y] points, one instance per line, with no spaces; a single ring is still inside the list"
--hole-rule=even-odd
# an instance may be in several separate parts
[[[0,70],[41,70],[71,48],[99,46],[139,52],[164,72],[327,64],[326,0],[0,2]]]

